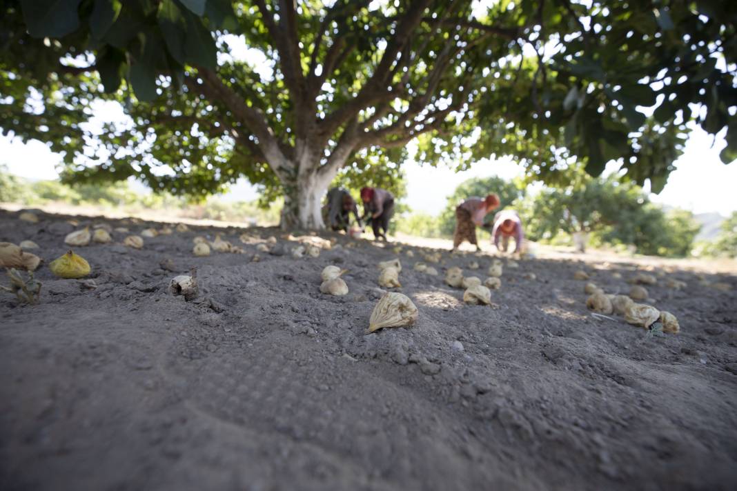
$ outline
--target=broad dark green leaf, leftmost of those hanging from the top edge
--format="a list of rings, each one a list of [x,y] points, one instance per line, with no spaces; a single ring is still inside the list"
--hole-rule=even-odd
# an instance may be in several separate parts
[[[82,0],[21,0],[23,18],[34,38],[61,38],[80,27]]]

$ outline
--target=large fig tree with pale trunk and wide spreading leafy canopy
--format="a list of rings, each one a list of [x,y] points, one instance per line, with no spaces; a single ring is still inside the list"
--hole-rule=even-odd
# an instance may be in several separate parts
[[[474,4],[9,0],[0,124],[62,152],[67,180],[208,194],[247,177],[302,227],[323,225],[341,168],[400,163],[415,139],[420,163],[512,155],[548,183],[620,160],[654,191],[689,121],[728,127],[737,155],[735,2]],[[98,99],[128,119],[85,125]]]

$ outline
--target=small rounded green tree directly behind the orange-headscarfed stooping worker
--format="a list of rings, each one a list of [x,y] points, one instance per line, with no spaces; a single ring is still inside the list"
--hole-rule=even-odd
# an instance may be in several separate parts
[[[460,205],[464,199],[470,197],[485,197],[489,193],[499,195],[500,205],[498,210],[509,207],[524,196],[525,191],[521,184],[511,183],[501,177],[484,177],[481,179],[469,179],[459,184],[453,194],[448,197],[447,205],[440,213],[440,233],[443,236],[452,236],[455,230],[455,207]],[[494,213],[486,216],[486,222],[494,220]]]

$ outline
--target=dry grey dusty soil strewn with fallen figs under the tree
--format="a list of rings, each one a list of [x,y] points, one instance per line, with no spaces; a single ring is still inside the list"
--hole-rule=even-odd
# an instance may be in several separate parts
[[[495,305],[471,306],[444,284],[444,269],[483,280],[492,256],[446,252],[433,277],[413,271],[422,250],[405,247],[401,292],[419,319],[366,334],[381,294],[376,264],[395,257],[395,244],[326,234],[343,247],[297,259],[288,251],[298,239],[319,240],[228,228],[223,238],[245,253],[196,258],[192,239],[212,239],[214,229],[145,239],[142,250],[113,233],[113,244],[77,248],[93,268],[91,289],[47,267],[68,249],[74,217],[40,216],[31,224],[0,212],[0,240],[31,239],[46,261],[40,304],[0,297],[2,490],[728,490],[737,482],[733,275],[664,272],[649,291],[682,332],[657,337],[593,317],[585,282],[573,279],[586,269],[607,292],[626,292],[632,264],[519,261],[492,291]],[[149,226],[76,219],[77,228]],[[252,262],[269,236],[287,253]],[[165,258],[174,271],[161,269]],[[470,270],[472,261],[481,269]],[[345,297],[318,291],[328,264],[349,269]],[[168,284],[192,266],[200,295],[186,302]],[[529,272],[537,279],[525,279]],[[667,289],[666,278],[688,286]]]

